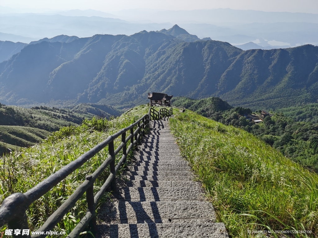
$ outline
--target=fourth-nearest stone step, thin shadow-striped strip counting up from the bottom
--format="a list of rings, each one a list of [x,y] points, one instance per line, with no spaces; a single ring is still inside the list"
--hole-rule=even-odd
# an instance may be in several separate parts
[[[131,180],[131,181],[121,182],[119,186],[121,188],[123,187],[190,187],[190,186],[197,186],[201,188],[201,183],[195,182],[195,181]]]

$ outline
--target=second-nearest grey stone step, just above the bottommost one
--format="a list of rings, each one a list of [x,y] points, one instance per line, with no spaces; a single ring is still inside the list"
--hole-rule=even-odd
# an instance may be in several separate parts
[[[211,203],[204,201],[175,202],[105,202],[99,210],[99,219],[119,223],[187,223],[189,220],[216,220]]]

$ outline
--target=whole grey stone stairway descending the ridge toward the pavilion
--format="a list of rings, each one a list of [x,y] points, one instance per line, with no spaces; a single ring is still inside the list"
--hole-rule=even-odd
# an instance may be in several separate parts
[[[128,181],[100,208],[96,237],[228,237],[180,156],[168,118],[150,127],[128,166]]]

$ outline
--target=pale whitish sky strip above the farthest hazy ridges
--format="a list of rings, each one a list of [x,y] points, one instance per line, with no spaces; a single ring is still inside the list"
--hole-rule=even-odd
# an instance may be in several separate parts
[[[318,0],[0,0],[0,6],[53,10],[94,9],[104,12],[135,8],[162,10],[231,8],[318,13]]]

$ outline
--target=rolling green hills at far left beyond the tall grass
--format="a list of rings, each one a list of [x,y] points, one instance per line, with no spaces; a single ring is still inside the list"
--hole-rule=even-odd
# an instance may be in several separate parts
[[[79,125],[84,117],[98,115],[110,118],[111,115],[119,116],[120,113],[120,110],[108,105],[81,103],[71,111],[43,106],[22,108],[0,103],[0,156],[5,148],[16,150],[33,146],[47,138],[52,131],[63,126]]]

